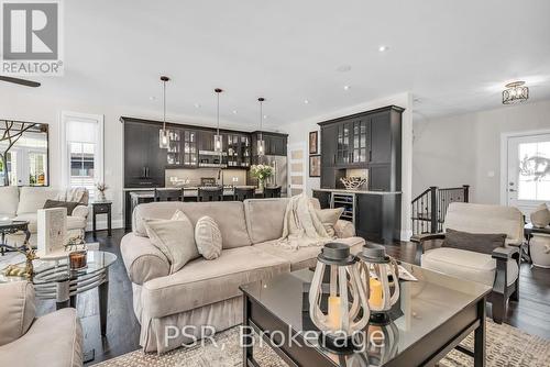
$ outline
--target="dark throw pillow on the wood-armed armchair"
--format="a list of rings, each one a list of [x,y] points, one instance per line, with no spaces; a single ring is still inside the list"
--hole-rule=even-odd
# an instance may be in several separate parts
[[[505,233],[468,233],[447,229],[441,246],[491,255],[493,249],[504,246],[505,241]]]

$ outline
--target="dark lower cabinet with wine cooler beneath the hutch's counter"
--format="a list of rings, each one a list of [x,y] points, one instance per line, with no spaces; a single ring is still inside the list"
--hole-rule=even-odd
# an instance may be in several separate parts
[[[321,208],[343,208],[342,219],[353,222],[358,236],[391,244],[399,241],[402,192],[314,189]]]

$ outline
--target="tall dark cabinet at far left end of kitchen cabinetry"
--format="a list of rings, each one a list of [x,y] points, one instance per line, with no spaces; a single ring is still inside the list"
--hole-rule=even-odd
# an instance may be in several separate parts
[[[158,146],[162,124],[124,120],[124,187],[163,187],[166,149]]]

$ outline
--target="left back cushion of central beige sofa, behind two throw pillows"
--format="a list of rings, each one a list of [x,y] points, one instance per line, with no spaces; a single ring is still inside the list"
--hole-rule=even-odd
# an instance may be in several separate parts
[[[140,204],[133,212],[134,233],[146,236],[144,220],[170,219],[177,209],[182,210],[190,219],[194,226],[199,218],[211,216],[220,229],[223,248],[250,246],[252,244],[246,231],[243,203],[238,201],[165,201]]]

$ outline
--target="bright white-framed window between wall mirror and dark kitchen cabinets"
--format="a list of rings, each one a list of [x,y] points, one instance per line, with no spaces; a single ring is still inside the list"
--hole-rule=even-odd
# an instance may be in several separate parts
[[[103,116],[64,112],[62,123],[64,180],[68,188],[87,188],[94,199],[103,181]]]

